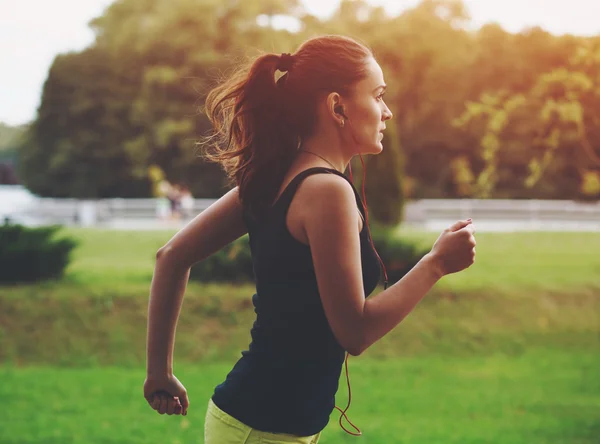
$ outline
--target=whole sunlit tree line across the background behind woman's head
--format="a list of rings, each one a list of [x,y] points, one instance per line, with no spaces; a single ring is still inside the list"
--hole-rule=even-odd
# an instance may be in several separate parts
[[[380,222],[400,219],[403,198],[597,200],[600,38],[468,23],[451,0],[398,16],[344,0],[325,20],[298,0],[116,1],[91,23],[90,47],[56,57],[20,179],[43,196],[149,196],[157,165],[195,196],[220,196],[224,175],[195,145],[207,92],[259,49],[338,33],[370,45],[389,84],[388,153],[367,159]]]

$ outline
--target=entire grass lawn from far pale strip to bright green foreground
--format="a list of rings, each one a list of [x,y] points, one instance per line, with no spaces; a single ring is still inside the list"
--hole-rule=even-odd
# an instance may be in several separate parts
[[[253,288],[189,286],[175,369],[192,407],[160,416],[141,396],[145,316],[172,233],[67,233],[81,246],[62,282],[0,288],[0,443],[201,443],[211,391],[247,346]],[[600,233],[477,237],[471,269],[350,360],[364,436],[334,412],[322,443],[600,443]]]

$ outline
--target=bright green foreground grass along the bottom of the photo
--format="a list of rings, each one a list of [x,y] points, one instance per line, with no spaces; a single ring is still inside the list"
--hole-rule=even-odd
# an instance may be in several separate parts
[[[3,444],[201,443],[206,403],[228,364],[180,365],[186,417],[160,416],[141,369],[0,369]],[[533,350],[519,356],[351,359],[351,420],[334,412],[321,442],[593,444],[600,436],[600,357]],[[341,386],[338,405],[346,403]]]

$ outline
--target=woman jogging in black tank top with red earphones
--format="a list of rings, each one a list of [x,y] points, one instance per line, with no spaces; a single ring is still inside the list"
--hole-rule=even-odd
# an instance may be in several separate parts
[[[189,268],[249,233],[257,319],[248,350],[209,400],[206,444],[316,443],[346,353],[363,353],[442,276],[473,263],[473,225],[459,221],[402,280],[367,299],[380,263],[366,208],[342,172],[354,156],[382,151],[392,118],[385,88],[368,48],[325,36],[293,55],[263,55],[209,94],[209,158],[237,186],[158,251],[144,385],[159,413],[186,414],[172,354]]]

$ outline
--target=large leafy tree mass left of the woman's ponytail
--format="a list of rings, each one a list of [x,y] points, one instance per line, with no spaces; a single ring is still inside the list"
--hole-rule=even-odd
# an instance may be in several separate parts
[[[256,44],[289,32],[257,15],[300,14],[297,0],[123,0],[92,22],[96,42],[57,57],[23,147],[27,186],[45,196],[148,195],[148,167],[197,197],[224,191],[218,166],[199,159],[208,130],[198,104],[222,72]],[[225,58],[223,53],[230,56]],[[42,167],[42,166],[45,166]],[[47,167],[46,167],[47,166]]]

